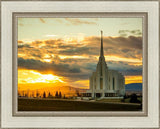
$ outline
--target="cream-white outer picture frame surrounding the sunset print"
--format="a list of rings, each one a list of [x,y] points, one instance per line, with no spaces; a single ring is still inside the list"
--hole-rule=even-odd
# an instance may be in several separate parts
[[[13,116],[13,14],[36,12],[147,13],[147,115]],[[1,128],[159,128],[159,1],[1,1]]]

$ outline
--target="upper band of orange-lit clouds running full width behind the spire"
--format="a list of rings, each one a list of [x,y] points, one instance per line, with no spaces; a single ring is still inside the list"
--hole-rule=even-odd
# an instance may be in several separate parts
[[[22,43],[22,41],[19,41]],[[27,57],[43,56],[43,54],[57,54],[57,55],[99,55],[100,48],[99,37],[81,37],[70,39],[51,39],[51,40],[37,40],[31,43],[23,43],[18,47],[18,54],[26,53]],[[141,37],[104,37],[104,53],[105,55],[114,55],[120,58],[142,58],[142,38]]]

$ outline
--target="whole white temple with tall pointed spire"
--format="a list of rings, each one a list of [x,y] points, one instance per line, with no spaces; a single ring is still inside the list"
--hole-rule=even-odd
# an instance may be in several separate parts
[[[125,95],[125,78],[116,70],[109,70],[103,52],[103,32],[101,31],[101,50],[96,71],[90,79],[90,89],[85,96],[92,98],[121,97]]]

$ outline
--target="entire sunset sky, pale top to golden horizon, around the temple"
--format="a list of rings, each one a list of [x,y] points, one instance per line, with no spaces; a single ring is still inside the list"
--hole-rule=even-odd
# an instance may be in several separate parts
[[[18,18],[18,88],[89,88],[100,30],[109,69],[142,83],[141,18]]]

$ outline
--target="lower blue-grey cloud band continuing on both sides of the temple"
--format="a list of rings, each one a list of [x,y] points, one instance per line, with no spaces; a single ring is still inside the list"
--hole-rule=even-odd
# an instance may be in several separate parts
[[[42,74],[52,73],[74,81],[88,79],[92,72],[96,71],[97,60],[94,62],[87,59],[58,58],[58,60],[59,63],[54,61],[46,63],[35,59],[18,58],[18,68],[37,70]],[[123,75],[142,75],[142,66],[129,65],[122,61],[108,61],[107,65],[109,69],[118,70]]]

